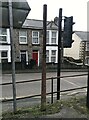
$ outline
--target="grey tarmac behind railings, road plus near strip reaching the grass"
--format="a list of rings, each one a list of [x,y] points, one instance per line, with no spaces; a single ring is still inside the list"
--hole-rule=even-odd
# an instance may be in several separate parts
[[[70,76],[70,75],[80,75],[80,74],[87,74],[87,72],[61,72],[61,76]],[[16,74],[16,81],[22,81],[22,80],[34,80],[34,79],[40,79],[42,76],[41,73],[22,73],[22,74]],[[47,73],[48,77],[56,77],[56,72],[50,72]],[[11,82],[12,76],[11,74],[3,74],[2,75],[2,83]],[[47,92],[51,91],[51,82],[47,81]],[[55,79],[53,82],[54,91],[57,89],[57,80]],[[76,87],[82,87],[87,85],[87,75],[85,76],[79,76],[79,77],[71,77],[71,78],[61,78],[60,81],[60,88],[61,90],[65,89],[71,89]],[[17,84],[16,85],[16,93],[17,97],[23,97],[28,95],[34,95],[34,94],[40,94],[41,93],[41,81],[39,82],[33,82],[33,83],[24,83],[24,84]],[[70,97],[71,95],[77,95],[78,94],[86,94],[86,89],[82,90],[76,90],[76,91],[70,91],[65,93],[61,93],[61,99],[66,99],[67,97]],[[12,98],[12,85],[6,85],[2,86],[2,98]],[[1,98],[1,99],[2,99]],[[54,100],[56,100],[56,94],[54,95]],[[47,96],[47,102],[51,102],[50,96]],[[18,100],[17,101],[17,107],[26,107],[26,106],[32,106],[37,105],[41,103],[41,97],[36,98],[28,98],[24,100]],[[4,102],[2,103],[2,111],[7,110],[13,110],[13,103],[12,102]]]

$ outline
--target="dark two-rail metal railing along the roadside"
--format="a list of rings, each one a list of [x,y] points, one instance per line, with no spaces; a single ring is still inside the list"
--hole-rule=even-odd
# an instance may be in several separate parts
[[[86,76],[86,75],[88,75],[88,74],[78,74],[78,75],[71,75],[71,76],[61,76],[60,78],[80,77],[80,76]],[[57,93],[57,91],[53,90],[53,81],[55,79],[57,79],[57,78],[58,77],[50,77],[50,78],[46,79],[47,81],[51,80],[51,92],[46,93],[46,95],[51,95],[51,103],[53,103],[54,94]],[[24,81],[18,81],[18,82],[16,82],[16,84],[32,83],[32,82],[37,82],[37,81],[41,81],[41,79],[34,79],[34,80],[27,80],[27,81],[25,81],[25,80]],[[12,85],[12,82],[2,83],[0,85],[2,85],[2,86]],[[77,87],[77,88],[73,88],[73,89],[61,90],[60,93],[62,93],[62,92],[68,92],[68,91],[74,91],[74,90],[78,90],[78,89],[84,89],[84,88],[87,88],[87,86]],[[35,95],[20,97],[20,98],[16,98],[16,100],[21,100],[21,99],[26,99],[26,98],[33,98],[33,97],[37,97],[37,96],[41,96],[41,94],[35,94]],[[2,100],[2,102],[7,102],[7,101],[13,101],[13,99]]]

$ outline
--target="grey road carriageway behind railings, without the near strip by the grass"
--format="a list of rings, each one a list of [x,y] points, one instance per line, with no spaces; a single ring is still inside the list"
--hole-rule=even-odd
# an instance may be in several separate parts
[[[69,75],[78,75],[78,74],[87,74],[87,72],[61,72],[61,76],[69,76]],[[16,74],[16,81],[23,81],[23,80],[34,80],[34,79],[41,79],[41,73],[23,73],[23,74]],[[47,73],[48,77],[56,77],[56,72]],[[2,75],[2,83],[8,83],[12,81],[11,74],[3,74]],[[87,86],[87,75],[79,76],[79,77],[71,77],[71,78],[61,78],[60,81],[60,88],[61,90],[71,89],[76,87]],[[54,91],[57,89],[57,80],[54,79],[53,82]],[[51,81],[46,82],[46,90],[47,92],[51,91]],[[86,89],[77,90],[77,92],[86,92]],[[5,85],[2,86],[2,98],[12,98],[12,85]],[[31,82],[31,83],[21,83],[16,84],[16,95],[17,97],[35,95],[41,93],[41,81]],[[68,94],[72,94],[71,93]]]

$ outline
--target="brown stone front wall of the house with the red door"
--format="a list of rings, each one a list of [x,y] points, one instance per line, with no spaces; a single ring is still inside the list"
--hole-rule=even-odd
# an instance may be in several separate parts
[[[15,60],[16,62],[21,61],[20,51],[27,51],[27,59],[26,62],[29,63],[32,59],[32,52],[34,50],[38,51],[38,66],[42,62],[42,30],[35,30],[35,29],[23,29],[27,31],[27,44],[20,44],[19,43],[19,29],[14,30],[14,42],[15,42]],[[39,44],[32,44],[32,31],[39,31]]]

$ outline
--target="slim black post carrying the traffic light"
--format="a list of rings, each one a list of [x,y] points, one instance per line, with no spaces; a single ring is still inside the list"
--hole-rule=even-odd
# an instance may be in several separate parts
[[[59,21],[58,21],[57,100],[60,99],[61,33],[62,33],[62,8],[59,9]]]

